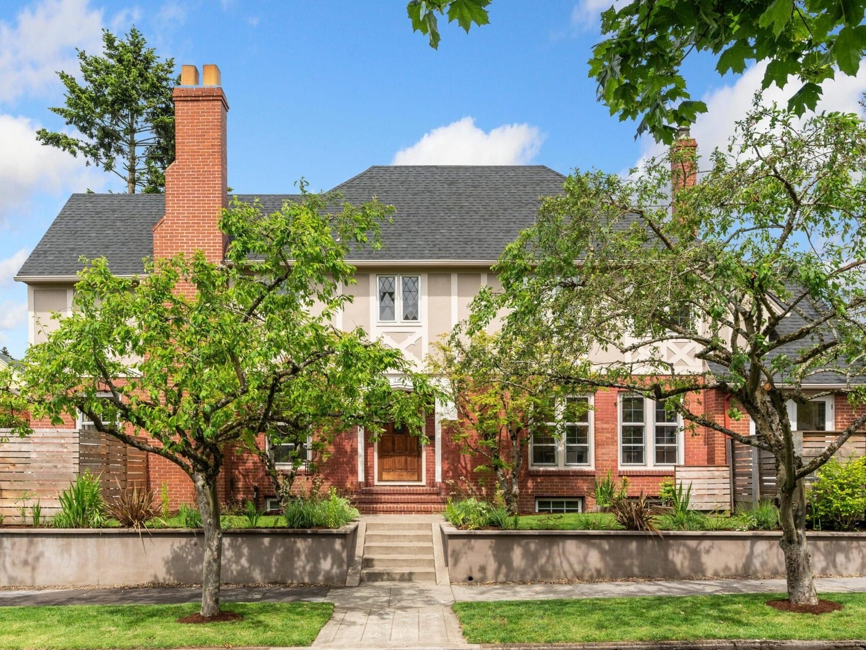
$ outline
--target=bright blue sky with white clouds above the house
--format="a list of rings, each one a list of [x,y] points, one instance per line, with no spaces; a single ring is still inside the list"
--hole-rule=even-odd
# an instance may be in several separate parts
[[[328,189],[370,165],[543,164],[621,172],[657,152],[595,99],[586,60],[610,0],[494,0],[491,24],[466,36],[442,25],[439,50],[413,33],[405,0],[3,0],[0,2],[0,345],[23,354],[26,290],[12,282],[70,192],[120,189],[81,160],[36,144],[61,128],[57,69],[100,29],[134,23],[164,56],[216,63],[229,99],[229,185]],[[724,143],[762,68],[721,79],[687,68],[710,113],[701,151]],[[824,107],[856,110],[866,74],[825,89]],[[767,93],[772,97],[771,90]],[[779,94],[781,97],[782,94]]]

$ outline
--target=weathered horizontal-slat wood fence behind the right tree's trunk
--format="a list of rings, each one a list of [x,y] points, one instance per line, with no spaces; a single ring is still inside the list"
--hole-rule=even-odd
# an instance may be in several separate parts
[[[815,458],[837,438],[839,432],[796,431],[794,445],[803,456],[804,462]],[[757,504],[761,499],[776,496],[776,461],[771,452],[729,440],[732,475],[734,483],[734,504]],[[856,432],[836,453],[836,458],[845,460],[866,456],[866,432]],[[806,478],[807,482],[813,476]],[[755,486],[757,485],[757,490]]]

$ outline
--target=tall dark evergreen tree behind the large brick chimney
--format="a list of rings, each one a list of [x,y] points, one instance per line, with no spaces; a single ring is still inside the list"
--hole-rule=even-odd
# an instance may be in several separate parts
[[[83,83],[58,72],[66,87],[66,105],[51,108],[81,134],[42,128],[36,140],[56,146],[86,164],[113,172],[126,192],[162,192],[165,168],[174,159],[174,103],[178,85],[174,59],[160,60],[134,27],[124,38],[102,31],[104,55],[78,50]]]

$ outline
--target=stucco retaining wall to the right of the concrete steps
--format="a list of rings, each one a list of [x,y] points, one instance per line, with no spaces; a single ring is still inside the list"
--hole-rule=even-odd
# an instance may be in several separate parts
[[[784,575],[778,532],[457,530],[442,524],[451,582]],[[809,532],[818,575],[866,575],[866,533]]]

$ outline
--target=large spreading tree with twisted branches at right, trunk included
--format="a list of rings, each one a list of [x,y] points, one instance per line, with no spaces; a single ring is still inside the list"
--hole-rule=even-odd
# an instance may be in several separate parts
[[[694,434],[771,452],[788,595],[813,603],[805,478],[866,424],[866,127],[755,109],[701,183],[671,198],[688,156],[677,147],[629,179],[569,177],[507,246],[503,290],[481,294],[474,328],[507,309],[502,345],[525,373],[642,395]],[[697,367],[677,361],[683,350]],[[804,458],[787,403],[836,393],[812,390],[827,380],[856,417]],[[708,413],[703,391],[727,413]],[[754,436],[734,424],[746,414]]]

